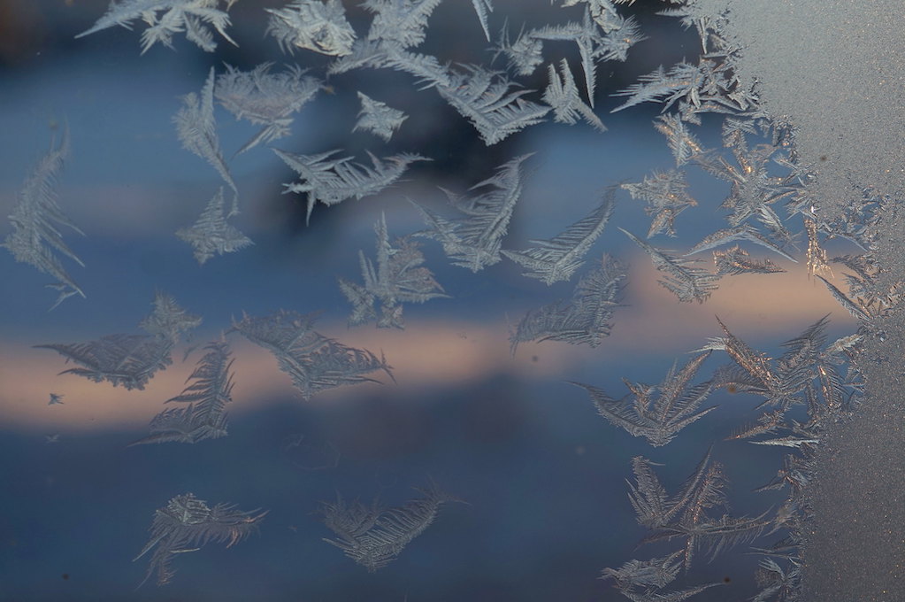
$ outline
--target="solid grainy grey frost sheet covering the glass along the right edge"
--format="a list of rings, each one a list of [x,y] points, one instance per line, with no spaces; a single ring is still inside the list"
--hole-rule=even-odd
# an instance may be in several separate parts
[[[801,158],[819,174],[818,215],[860,196],[900,197],[905,165],[905,29],[900,3],[836,0],[700,0],[729,9],[727,31],[743,49],[739,74],[757,79],[764,105],[799,130]],[[901,279],[896,203],[878,226],[878,286]],[[868,396],[851,421],[824,435],[808,492],[807,602],[905,600],[905,403],[900,316],[877,320],[863,353]]]

